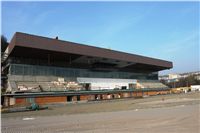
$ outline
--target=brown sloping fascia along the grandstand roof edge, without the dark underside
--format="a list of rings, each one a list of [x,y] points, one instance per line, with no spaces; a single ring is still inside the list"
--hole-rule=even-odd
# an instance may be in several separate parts
[[[15,33],[10,42],[9,53],[12,53],[13,48],[16,46],[85,56],[109,58],[127,62],[159,66],[165,69],[172,68],[172,62],[165,60],[19,32]]]

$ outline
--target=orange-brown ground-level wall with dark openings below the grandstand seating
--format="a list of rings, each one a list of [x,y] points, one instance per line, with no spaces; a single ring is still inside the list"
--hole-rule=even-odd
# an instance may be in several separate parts
[[[119,99],[119,98],[137,98],[143,97],[144,95],[158,95],[158,94],[168,94],[170,91],[138,91],[138,92],[120,92],[120,93],[102,93],[102,94],[73,94],[73,95],[44,95],[44,96],[25,96],[25,97],[4,97],[4,106],[26,106],[31,103],[37,104],[51,104],[51,103],[71,103],[79,101],[93,101],[93,100],[109,100],[109,99]],[[69,98],[69,99],[68,99]]]

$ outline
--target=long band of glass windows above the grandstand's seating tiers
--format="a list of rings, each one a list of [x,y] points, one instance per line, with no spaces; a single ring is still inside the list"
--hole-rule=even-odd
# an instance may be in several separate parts
[[[77,69],[66,67],[10,64],[11,75],[32,76],[59,76],[59,77],[93,77],[93,78],[120,78],[120,79],[157,79],[158,73],[132,73],[132,72],[103,72],[89,69]]]

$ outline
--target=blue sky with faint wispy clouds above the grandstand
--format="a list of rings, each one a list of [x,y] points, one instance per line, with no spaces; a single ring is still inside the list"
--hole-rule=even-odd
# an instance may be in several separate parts
[[[172,61],[160,74],[199,70],[198,2],[3,2],[2,34],[59,36]]]

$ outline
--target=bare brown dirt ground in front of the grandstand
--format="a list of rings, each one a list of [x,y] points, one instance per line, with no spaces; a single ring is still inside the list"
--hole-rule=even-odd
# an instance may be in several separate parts
[[[2,133],[200,133],[200,93],[3,113]]]

